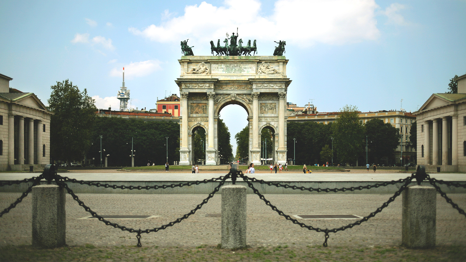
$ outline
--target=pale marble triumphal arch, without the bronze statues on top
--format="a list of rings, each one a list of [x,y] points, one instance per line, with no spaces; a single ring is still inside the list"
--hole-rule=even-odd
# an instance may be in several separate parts
[[[192,132],[206,131],[206,165],[219,164],[217,121],[228,104],[239,104],[248,115],[249,162],[261,164],[260,133],[274,134],[274,161],[287,160],[287,78],[285,56],[182,56],[180,165],[190,165]],[[234,134],[232,134],[234,135]]]

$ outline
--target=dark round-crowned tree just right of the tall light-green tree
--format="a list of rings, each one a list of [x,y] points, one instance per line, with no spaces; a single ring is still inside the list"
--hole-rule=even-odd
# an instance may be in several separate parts
[[[374,162],[383,157],[390,158],[400,144],[400,131],[389,123],[384,123],[381,119],[370,119],[365,124],[368,149]]]

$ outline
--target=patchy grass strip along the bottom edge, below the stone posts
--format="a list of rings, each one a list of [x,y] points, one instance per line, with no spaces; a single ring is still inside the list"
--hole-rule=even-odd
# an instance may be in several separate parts
[[[404,247],[327,247],[292,244],[221,249],[198,247],[70,246],[36,249],[31,246],[0,246],[0,261],[466,261],[466,246],[433,249]]]

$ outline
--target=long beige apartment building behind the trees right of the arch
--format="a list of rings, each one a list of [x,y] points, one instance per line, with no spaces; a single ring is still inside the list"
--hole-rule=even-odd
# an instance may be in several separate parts
[[[290,109],[289,107],[288,109]],[[288,116],[288,122],[303,123],[306,121],[313,121],[319,124],[333,123],[340,115],[340,112],[317,112],[317,108],[313,105],[306,106],[305,110],[290,111]],[[402,159],[403,164],[416,163],[416,146],[412,146],[409,141],[409,132],[411,125],[416,121],[416,117],[411,112],[399,111],[399,110],[380,110],[374,112],[360,112],[359,119],[361,123],[366,123],[370,119],[381,119],[384,123],[390,123],[393,127],[400,131],[402,138],[400,139],[400,145],[395,150],[395,162],[399,163]],[[383,163],[382,163],[383,164]],[[387,165],[388,165],[387,161]]]

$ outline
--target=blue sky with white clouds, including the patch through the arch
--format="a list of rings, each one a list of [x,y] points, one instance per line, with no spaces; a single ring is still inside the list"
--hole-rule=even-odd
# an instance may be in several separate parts
[[[0,73],[45,104],[69,79],[117,109],[125,67],[131,107],[153,109],[179,94],[180,41],[210,55],[209,41],[238,28],[258,55],[287,42],[288,102],[412,112],[466,73],[465,14],[466,0],[2,0]],[[232,138],[247,124],[240,106],[220,115]]]

